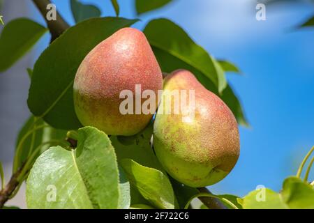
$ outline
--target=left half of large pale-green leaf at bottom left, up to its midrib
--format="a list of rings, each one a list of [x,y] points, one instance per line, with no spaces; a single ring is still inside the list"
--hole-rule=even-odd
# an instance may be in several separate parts
[[[27,207],[93,208],[74,151],[57,146],[38,157],[27,179]]]

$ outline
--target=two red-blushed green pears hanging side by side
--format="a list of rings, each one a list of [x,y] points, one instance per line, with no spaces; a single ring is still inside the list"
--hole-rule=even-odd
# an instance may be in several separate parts
[[[145,91],[158,95],[163,90],[155,105],[163,105],[167,111],[183,101],[179,95],[167,102],[165,98],[172,98],[167,94],[193,91],[193,107],[183,106],[179,114],[121,114],[121,91],[132,92],[136,101],[139,95],[135,85],[141,86],[140,96]],[[227,105],[188,70],[175,70],[163,79],[144,33],[137,29],[121,29],[92,49],[77,70],[73,91],[75,112],[82,125],[106,134],[130,136],[153,119],[156,156],[167,173],[181,183],[191,187],[213,185],[237,162],[239,131]],[[193,117],[184,118],[191,109]]]

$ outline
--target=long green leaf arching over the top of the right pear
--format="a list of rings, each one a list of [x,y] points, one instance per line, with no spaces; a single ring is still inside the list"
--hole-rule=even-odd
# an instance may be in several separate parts
[[[149,22],[144,33],[163,72],[190,70],[209,91],[222,98],[240,125],[248,126],[241,104],[227,85],[225,73],[218,61],[196,45],[181,27],[170,20],[159,19]],[[222,93],[218,92],[219,89],[223,90]]]

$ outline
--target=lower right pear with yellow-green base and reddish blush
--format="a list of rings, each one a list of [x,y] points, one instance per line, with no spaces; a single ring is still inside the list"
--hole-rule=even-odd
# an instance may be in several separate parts
[[[230,109],[188,70],[168,75],[163,89],[154,122],[154,150],[160,163],[170,176],[190,187],[213,185],[225,178],[237,163],[240,147]],[[184,100],[186,106],[182,106]],[[179,113],[174,109],[177,103]]]

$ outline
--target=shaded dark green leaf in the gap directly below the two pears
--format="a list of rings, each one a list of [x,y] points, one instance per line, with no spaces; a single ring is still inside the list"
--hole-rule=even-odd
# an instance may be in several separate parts
[[[110,137],[112,146],[114,146],[117,153],[118,162],[123,159],[131,159],[145,167],[158,169],[165,173],[151,148],[152,134],[153,124],[150,123],[147,128],[133,137]]]

